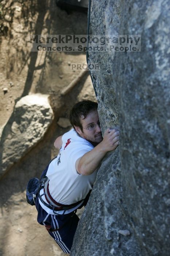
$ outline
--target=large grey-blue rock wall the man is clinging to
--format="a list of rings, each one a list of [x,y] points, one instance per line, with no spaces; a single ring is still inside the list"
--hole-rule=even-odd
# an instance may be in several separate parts
[[[141,34],[141,52],[90,52],[102,130],[120,126],[103,159],[70,255],[170,251],[169,1],[92,1],[90,34]]]

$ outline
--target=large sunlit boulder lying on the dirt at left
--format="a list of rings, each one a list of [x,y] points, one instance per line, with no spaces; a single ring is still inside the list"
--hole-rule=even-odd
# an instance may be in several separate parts
[[[52,120],[48,95],[31,94],[16,103],[1,133],[0,176],[43,138]]]

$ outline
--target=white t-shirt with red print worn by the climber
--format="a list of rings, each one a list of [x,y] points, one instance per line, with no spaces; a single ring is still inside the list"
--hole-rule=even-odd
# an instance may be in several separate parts
[[[50,180],[50,195],[55,201],[61,204],[73,204],[85,199],[96,180],[97,170],[84,176],[77,173],[75,164],[78,158],[93,148],[93,145],[78,136],[74,129],[62,136],[62,147],[57,158],[50,163],[46,174]],[[48,213],[53,214],[51,213],[52,210],[45,207],[41,202],[40,204]],[[77,207],[67,210],[65,214]],[[62,214],[62,211],[57,213]]]

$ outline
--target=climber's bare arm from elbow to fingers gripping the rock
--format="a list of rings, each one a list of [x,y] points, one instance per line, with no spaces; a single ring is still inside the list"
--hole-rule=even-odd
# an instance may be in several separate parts
[[[117,129],[107,129],[100,142],[91,151],[84,154],[76,161],[76,170],[82,175],[92,174],[100,165],[101,159],[108,151],[114,150],[119,145],[119,131]]]

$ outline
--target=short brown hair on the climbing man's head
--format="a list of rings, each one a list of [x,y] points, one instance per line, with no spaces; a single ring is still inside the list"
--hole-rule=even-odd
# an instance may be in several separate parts
[[[73,108],[70,110],[70,123],[74,126],[80,127],[81,131],[83,131],[82,124],[80,121],[80,117],[86,116],[89,114],[92,110],[97,110],[98,103],[94,101],[89,101],[88,99],[85,99],[84,101],[80,101],[76,103]]]

